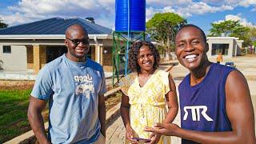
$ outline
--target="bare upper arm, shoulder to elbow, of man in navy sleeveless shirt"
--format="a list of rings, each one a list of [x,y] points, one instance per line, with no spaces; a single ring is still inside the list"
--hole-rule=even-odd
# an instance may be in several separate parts
[[[232,71],[226,81],[226,113],[230,119],[237,142],[256,143],[254,108],[246,78]]]

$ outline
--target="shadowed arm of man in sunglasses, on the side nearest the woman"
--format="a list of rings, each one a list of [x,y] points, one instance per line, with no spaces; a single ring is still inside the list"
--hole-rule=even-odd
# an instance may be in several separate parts
[[[101,122],[101,132],[106,138],[106,104],[104,94],[98,95],[98,118]]]

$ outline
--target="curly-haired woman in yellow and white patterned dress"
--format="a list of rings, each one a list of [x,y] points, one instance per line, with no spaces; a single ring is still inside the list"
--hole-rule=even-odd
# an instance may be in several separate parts
[[[170,143],[170,137],[144,131],[146,126],[157,122],[173,122],[178,113],[174,80],[169,72],[158,70],[159,60],[158,50],[152,43],[135,42],[131,46],[129,66],[133,73],[119,82],[123,92],[120,110],[126,127],[126,143],[138,143],[134,138]]]

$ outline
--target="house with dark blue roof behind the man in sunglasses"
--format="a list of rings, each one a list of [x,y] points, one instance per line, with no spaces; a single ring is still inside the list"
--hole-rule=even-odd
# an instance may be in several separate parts
[[[112,30],[82,18],[49,18],[0,29],[0,69],[32,70],[35,74],[47,62],[66,53],[66,28],[78,23],[88,32],[88,56],[112,70]]]

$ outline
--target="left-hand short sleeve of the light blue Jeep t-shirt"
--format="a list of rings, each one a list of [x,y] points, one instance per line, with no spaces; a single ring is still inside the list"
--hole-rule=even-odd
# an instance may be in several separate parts
[[[30,95],[41,100],[48,100],[53,93],[52,86],[53,82],[50,76],[50,70],[46,65],[39,71]]]

